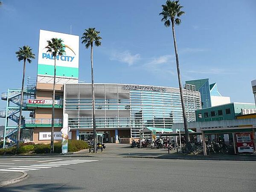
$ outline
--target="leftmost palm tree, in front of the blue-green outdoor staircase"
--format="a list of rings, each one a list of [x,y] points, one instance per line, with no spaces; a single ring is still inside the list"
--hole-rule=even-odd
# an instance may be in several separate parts
[[[32,53],[32,49],[29,46],[19,47],[19,50],[15,52],[18,61],[23,61],[23,77],[22,77],[22,86],[21,86],[21,100],[20,100],[20,117],[18,124],[18,136],[17,136],[17,150],[19,149],[20,144],[20,126],[21,126],[21,118],[22,118],[22,106],[23,106],[23,89],[24,89],[24,79],[26,72],[26,61],[29,63],[32,62],[32,58],[35,58],[35,54]]]

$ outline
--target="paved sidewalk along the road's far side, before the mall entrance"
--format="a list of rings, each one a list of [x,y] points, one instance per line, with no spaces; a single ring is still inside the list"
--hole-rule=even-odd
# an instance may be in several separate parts
[[[33,154],[33,155],[12,155],[0,156],[1,158],[33,158],[33,157],[133,157],[133,158],[154,158],[154,159],[183,159],[183,160],[234,160],[234,161],[256,161],[256,154],[225,155],[213,154],[210,156],[177,154],[176,150],[151,148],[131,148],[130,144],[107,143],[103,152],[89,153],[88,150],[81,150],[68,154]]]

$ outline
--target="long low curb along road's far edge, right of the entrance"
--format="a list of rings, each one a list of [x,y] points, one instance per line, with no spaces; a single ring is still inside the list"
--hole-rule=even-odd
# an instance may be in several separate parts
[[[148,158],[148,159],[178,159],[178,160],[216,160],[216,161],[256,161],[256,159],[233,159],[233,158],[207,158],[207,157],[139,157],[125,156],[128,158]]]

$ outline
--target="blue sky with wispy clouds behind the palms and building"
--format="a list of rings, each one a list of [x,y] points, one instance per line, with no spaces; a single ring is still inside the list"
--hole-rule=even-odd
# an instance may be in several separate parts
[[[163,0],[2,0],[0,91],[21,87],[22,62],[15,51],[38,54],[39,29],[80,35],[101,31],[94,49],[95,82],[178,87],[171,28],[161,23]],[[254,102],[256,1],[180,0],[186,12],[176,27],[182,81],[209,78],[231,102]],[[26,67],[36,77],[37,58]],[[90,51],[80,44],[79,79],[90,82]],[[6,102],[1,101],[0,107]]]

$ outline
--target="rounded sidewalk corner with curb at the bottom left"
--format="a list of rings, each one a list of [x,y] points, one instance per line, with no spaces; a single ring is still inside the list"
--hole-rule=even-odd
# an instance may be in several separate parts
[[[26,172],[1,172],[0,187],[20,182],[28,177]]]

